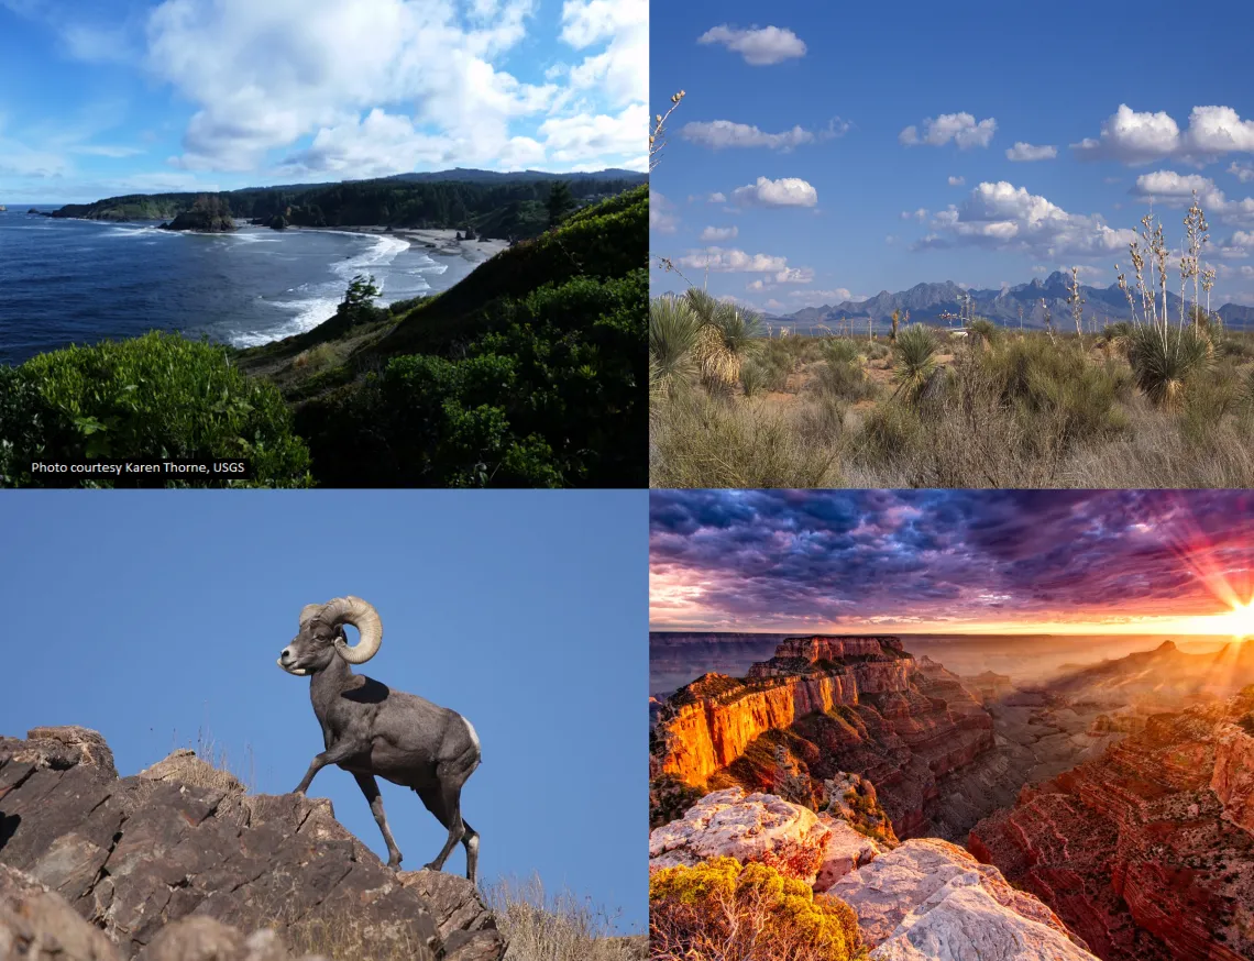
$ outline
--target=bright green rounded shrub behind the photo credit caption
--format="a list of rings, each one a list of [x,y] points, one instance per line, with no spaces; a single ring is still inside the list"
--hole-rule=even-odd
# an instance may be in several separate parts
[[[29,470],[39,456],[238,457],[251,461],[255,484],[311,482],[308,451],[278,390],[248,380],[223,348],[172,333],[66,347],[10,370],[0,378],[0,437],[5,482],[40,484],[14,467]]]

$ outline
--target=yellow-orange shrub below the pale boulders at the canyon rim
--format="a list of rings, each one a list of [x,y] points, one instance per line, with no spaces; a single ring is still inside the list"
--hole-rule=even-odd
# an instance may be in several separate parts
[[[648,903],[655,958],[849,961],[861,950],[849,905],[766,865],[665,868],[650,877]]]

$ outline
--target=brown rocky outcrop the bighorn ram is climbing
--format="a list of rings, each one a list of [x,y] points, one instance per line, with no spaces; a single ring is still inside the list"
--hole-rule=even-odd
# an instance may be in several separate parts
[[[331,803],[251,796],[188,751],[119,778],[76,727],[0,737],[0,957],[500,961],[465,878],[394,872]]]

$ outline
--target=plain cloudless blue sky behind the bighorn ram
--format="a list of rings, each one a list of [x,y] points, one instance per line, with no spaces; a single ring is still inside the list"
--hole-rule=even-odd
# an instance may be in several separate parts
[[[275,663],[306,604],[356,594],[384,623],[361,673],[472,720],[463,809],[480,875],[568,886],[646,916],[647,494],[59,492],[0,500],[5,631],[23,658],[0,733],[100,730],[122,774],[192,745],[251,748],[257,791],[300,782],[322,737],[308,682]],[[382,783],[405,867],[446,832]],[[352,778],[317,774],[386,849]],[[460,848],[448,868],[465,870]]]

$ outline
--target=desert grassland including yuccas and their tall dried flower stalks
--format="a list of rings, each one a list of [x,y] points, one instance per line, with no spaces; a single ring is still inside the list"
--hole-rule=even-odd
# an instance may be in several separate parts
[[[887,337],[776,338],[696,287],[653,298],[650,482],[1254,486],[1254,337],[1209,311],[1196,199],[1184,223],[1176,277],[1161,223],[1141,221],[1134,277],[1119,276],[1131,321],[1097,333],[1083,330],[1076,271],[1073,333],[1046,312],[1041,331],[969,316],[961,336],[894,318]]]

